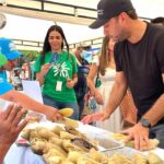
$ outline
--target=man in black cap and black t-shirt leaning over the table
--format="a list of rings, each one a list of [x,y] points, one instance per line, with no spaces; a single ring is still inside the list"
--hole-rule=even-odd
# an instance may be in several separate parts
[[[142,150],[149,138],[164,148],[164,28],[138,20],[130,0],[101,0],[97,20],[90,27],[108,24],[115,42],[116,79],[108,105],[87,121],[105,120],[117,108],[129,86],[138,108],[138,124],[124,131]],[[95,119],[94,119],[95,118]]]

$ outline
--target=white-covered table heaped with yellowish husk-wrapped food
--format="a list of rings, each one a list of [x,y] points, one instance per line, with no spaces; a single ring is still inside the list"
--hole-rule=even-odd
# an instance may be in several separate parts
[[[145,151],[125,143],[125,136],[63,118],[28,124],[8,152],[4,164],[163,164],[164,150],[150,140]]]

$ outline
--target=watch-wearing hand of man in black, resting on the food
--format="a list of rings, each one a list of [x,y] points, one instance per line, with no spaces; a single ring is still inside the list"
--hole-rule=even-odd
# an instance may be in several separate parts
[[[140,122],[134,125],[132,128],[121,131],[127,134],[127,141],[134,140],[134,149],[142,151],[143,147],[150,145],[149,143],[149,128],[142,127]]]

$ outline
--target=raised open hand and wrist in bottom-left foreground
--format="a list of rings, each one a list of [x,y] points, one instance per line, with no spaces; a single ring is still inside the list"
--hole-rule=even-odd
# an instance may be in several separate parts
[[[22,121],[25,113],[24,108],[14,104],[10,104],[5,112],[0,109],[0,164],[19,133],[28,122],[27,119]]]

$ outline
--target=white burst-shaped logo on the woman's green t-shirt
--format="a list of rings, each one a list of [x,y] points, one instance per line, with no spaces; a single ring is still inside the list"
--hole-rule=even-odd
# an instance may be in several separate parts
[[[66,62],[57,63],[52,67],[52,69],[54,69],[54,77],[59,75],[59,77],[62,77],[62,78],[66,78],[66,79],[70,79],[69,73],[68,73],[68,71],[70,69],[67,67]]]

